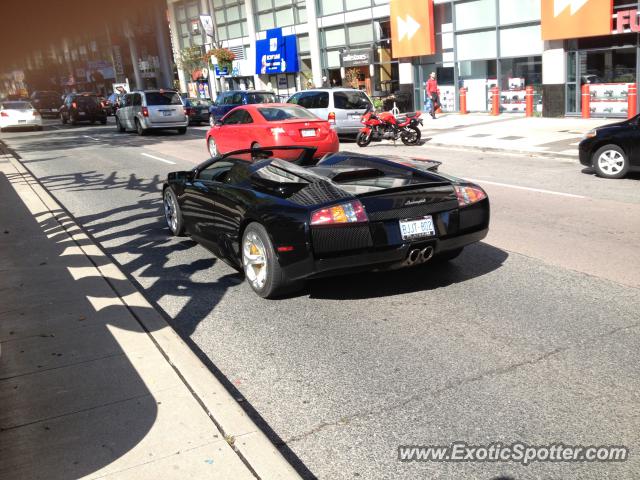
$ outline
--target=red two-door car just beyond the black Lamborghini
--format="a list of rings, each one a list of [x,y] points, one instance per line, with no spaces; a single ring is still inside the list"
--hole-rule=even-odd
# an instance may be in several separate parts
[[[257,147],[313,146],[316,157],[335,153],[338,135],[329,122],[290,103],[260,103],[236,107],[207,132],[212,157]]]

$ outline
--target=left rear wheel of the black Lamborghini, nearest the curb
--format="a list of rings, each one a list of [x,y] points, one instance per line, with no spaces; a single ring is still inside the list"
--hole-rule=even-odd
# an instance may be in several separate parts
[[[259,223],[250,223],[242,235],[242,268],[251,289],[262,298],[274,298],[289,291],[275,249],[267,230]],[[286,288],[289,286],[289,288]]]

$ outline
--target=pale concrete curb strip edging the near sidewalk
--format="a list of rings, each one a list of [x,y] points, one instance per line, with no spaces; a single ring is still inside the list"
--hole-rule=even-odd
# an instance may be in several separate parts
[[[140,323],[200,406],[251,473],[260,480],[301,479],[282,453],[245,413],[224,385],[209,371],[185,341],[149,303],[134,283],[104,254],[102,247],[87,235],[75,218],[53,198],[47,189],[19,160],[18,155],[0,142],[0,152],[29,183],[49,210],[67,212],[68,219],[59,223],[65,233],[100,272],[103,280]],[[107,260],[107,263],[105,263]],[[118,279],[112,282],[110,279]]]

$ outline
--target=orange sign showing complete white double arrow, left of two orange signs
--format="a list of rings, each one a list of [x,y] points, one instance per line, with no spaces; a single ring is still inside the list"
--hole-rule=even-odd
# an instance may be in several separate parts
[[[436,53],[433,0],[391,0],[392,57],[418,57]]]

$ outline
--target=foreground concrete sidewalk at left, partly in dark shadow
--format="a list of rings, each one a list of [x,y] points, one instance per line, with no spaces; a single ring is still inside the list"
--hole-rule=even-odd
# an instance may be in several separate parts
[[[300,478],[2,148],[0,478]]]

